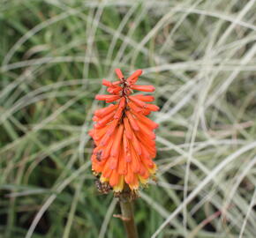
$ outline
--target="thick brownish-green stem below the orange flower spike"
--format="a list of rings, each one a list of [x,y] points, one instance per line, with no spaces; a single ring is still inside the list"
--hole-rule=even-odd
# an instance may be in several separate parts
[[[120,199],[120,206],[127,238],[138,238],[139,236],[134,222],[132,202],[128,199]]]

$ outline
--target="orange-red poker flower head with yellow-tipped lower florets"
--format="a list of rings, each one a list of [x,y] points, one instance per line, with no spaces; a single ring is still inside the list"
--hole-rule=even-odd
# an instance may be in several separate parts
[[[120,69],[116,73],[118,81],[102,81],[110,94],[95,97],[116,104],[111,103],[109,107],[94,112],[94,129],[89,135],[95,143],[91,158],[94,172],[101,175],[102,183],[107,182],[115,192],[120,192],[125,183],[131,190],[138,190],[139,184],[147,183],[155,173],[154,129],[158,124],[146,115],[159,108],[147,103],[154,100],[153,96],[131,95],[133,90],[154,92],[154,86],[135,85],[141,70],[129,78],[124,78]]]

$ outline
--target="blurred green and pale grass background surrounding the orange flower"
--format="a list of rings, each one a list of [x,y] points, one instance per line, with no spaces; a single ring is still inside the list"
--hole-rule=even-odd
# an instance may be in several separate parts
[[[87,135],[117,67],[161,108],[139,237],[256,237],[256,1],[2,0],[0,31],[0,237],[124,237]]]

